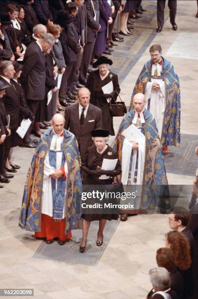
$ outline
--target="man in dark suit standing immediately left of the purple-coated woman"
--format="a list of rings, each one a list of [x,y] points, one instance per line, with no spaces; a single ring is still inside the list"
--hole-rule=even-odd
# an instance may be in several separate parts
[[[87,43],[84,46],[82,64],[80,66],[79,86],[86,83],[87,70],[96,43],[97,32],[101,28],[99,24],[99,0],[86,0],[85,7],[87,12]]]

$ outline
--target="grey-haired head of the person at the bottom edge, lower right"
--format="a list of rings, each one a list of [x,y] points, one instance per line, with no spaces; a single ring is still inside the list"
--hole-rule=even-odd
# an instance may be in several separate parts
[[[147,299],[178,299],[177,294],[170,288],[171,279],[168,270],[156,267],[149,271],[149,276],[153,289]]]

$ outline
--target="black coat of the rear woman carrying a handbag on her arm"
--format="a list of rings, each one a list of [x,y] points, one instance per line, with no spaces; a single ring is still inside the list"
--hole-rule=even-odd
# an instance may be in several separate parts
[[[111,93],[111,103],[113,104],[117,100],[118,93],[120,92],[118,76],[116,74],[110,71],[108,76],[105,79],[101,80],[99,76],[99,70],[93,71],[88,76],[86,87],[91,92],[90,103],[102,110],[102,128],[108,130],[109,134],[114,136],[115,132],[113,127],[113,117],[110,114],[109,104],[102,91],[102,87],[111,81],[113,82],[114,86],[114,91]]]

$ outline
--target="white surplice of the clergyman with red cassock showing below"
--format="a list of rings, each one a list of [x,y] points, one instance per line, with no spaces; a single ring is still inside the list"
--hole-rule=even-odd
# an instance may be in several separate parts
[[[50,149],[52,150],[60,150],[61,144],[63,142],[64,136],[60,136],[60,134],[55,134],[52,137]],[[57,155],[57,165],[56,169],[61,168],[61,161],[62,161],[62,152],[59,151],[56,153]],[[67,162],[65,161],[64,164],[65,174],[68,174],[68,167]],[[43,188],[42,188],[42,207],[41,213],[46,214],[50,217],[53,216],[53,198],[52,198],[52,183],[50,175],[54,173],[54,168],[50,166],[49,163],[49,152],[47,152],[45,161],[44,161],[44,175],[43,175]],[[57,188],[58,179],[56,179],[56,188]],[[66,185],[67,185],[67,178],[66,178]],[[66,186],[65,185],[65,186]],[[66,188],[65,188],[65,195],[66,195]],[[63,214],[62,218],[65,218],[65,205],[63,207]]]

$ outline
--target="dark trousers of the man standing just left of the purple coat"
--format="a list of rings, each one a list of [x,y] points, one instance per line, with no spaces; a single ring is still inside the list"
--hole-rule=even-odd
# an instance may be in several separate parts
[[[91,62],[91,56],[93,53],[93,49],[96,43],[96,37],[93,39],[92,42],[88,42],[84,46],[84,52],[82,56],[82,64],[80,66],[80,74],[79,74],[79,83],[85,84],[87,80],[87,70],[89,67],[89,64]]]

